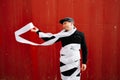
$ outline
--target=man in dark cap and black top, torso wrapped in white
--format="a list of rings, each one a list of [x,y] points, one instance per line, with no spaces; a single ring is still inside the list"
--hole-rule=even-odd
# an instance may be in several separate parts
[[[84,34],[76,29],[74,26],[74,20],[70,17],[66,17],[59,21],[63,29],[63,33],[70,32],[68,36],[59,37],[56,42],[61,41],[62,48],[60,50],[60,72],[62,80],[80,80],[80,71],[86,70],[87,62],[87,47],[84,38]],[[32,32],[36,32],[41,38],[43,33],[34,27]],[[45,34],[45,33],[44,33]],[[56,38],[56,36],[44,37],[45,41],[49,41]],[[80,69],[80,49],[82,49],[82,66]]]

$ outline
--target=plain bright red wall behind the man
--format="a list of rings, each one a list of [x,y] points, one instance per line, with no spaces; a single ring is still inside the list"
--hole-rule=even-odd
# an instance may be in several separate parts
[[[86,36],[89,55],[82,80],[120,80],[120,0],[0,0],[0,80],[60,80],[60,43],[21,44],[14,31],[32,21],[56,33],[66,16]],[[31,32],[23,37],[42,41]]]

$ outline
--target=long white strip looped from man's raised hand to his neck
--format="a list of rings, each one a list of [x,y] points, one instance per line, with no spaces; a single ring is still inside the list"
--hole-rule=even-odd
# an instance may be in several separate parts
[[[65,30],[63,29],[62,31],[60,31],[57,34],[50,34],[50,33],[40,32],[39,35],[40,35],[41,38],[46,37],[46,36],[49,36],[49,37],[54,36],[55,38],[50,39],[50,40],[48,40],[48,41],[46,41],[44,43],[38,44],[38,43],[34,43],[32,41],[29,41],[27,39],[24,39],[24,38],[22,38],[20,36],[20,35],[26,33],[27,31],[29,31],[32,28],[34,28],[34,25],[31,22],[31,23],[28,23],[27,25],[25,25],[24,27],[20,28],[19,30],[15,31],[15,39],[16,39],[16,41],[20,42],[20,43],[24,43],[24,44],[35,45],[35,46],[48,46],[48,45],[54,44],[59,38],[70,36],[76,31],[76,28],[75,28],[75,29],[72,29],[72,30],[67,31],[67,32],[65,32]]]

